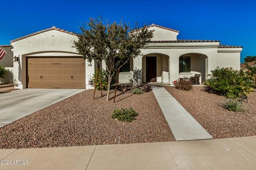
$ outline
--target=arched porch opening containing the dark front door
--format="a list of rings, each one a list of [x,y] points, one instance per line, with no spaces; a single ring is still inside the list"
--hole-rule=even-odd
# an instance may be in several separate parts
[[[142,57],[142,82],[170,83],[170,57],[161,53],[150,53]]]

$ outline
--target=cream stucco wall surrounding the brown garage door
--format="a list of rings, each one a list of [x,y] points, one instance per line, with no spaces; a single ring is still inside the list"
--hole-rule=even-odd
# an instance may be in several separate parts
[[[27,56],[79,56],[73,48],[73,41],[77,37],[65,32],[50,30],[25,39],[14,41],[13,55],[19,56],[19,62],[14,63],[14,82],[17,88],[26,88],[26,57]],[[85,61],[86,86],[94,73],[94,62]]]

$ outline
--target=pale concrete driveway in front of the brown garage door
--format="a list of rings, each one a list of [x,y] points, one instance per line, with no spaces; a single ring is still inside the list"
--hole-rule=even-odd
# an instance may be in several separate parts
[[[0,94],[0,127],[85,89],[22,89]]]

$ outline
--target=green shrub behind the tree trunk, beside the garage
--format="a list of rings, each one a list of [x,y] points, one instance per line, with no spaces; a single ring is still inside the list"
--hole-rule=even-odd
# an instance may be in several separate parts
[[[95,74],[93,74],[93,77],[92,77],[93,83],[95,82],[95,78],[96,78],[96,72],[95,72]],[[104,91],[108,90],[108,77],[106,75],[106,72],[102,69],[100,69],[100,71],[98,72],[98,78],[97,78],[97,82],[96,82],[97,90],[100,90],[100,79],[101,79],[102,90],[104,90]],[[115,83],[116,83],[116,79],[115,79],[115,75],[114,75],[111,80],[111,86],[113,86],[113,84],[115,84]]]

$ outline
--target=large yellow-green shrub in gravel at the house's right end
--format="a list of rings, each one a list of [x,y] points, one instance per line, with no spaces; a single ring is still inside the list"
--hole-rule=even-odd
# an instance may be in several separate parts
[[[207,89],[227,98],[239,98],[253,91],[255,77],[248,73],[246,70],[217,68],[211,71],[210,78],[204,84]]]

